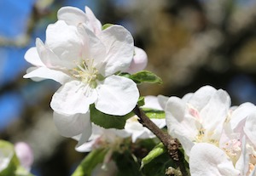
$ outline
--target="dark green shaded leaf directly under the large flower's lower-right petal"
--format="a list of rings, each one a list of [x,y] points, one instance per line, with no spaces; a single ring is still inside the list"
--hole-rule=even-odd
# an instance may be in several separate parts
[[[108,115],[102,111],[96,110],[95,105],[90,105],[90,121],[102,128],[123,129],[125,127],[126,120],[131,116],[134,116],[133,112],[130,112],[125,116]]]

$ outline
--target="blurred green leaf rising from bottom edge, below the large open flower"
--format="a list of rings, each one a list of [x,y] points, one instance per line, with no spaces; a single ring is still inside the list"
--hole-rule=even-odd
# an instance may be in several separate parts
[[[98,149],[92,150],[85,156],[79,167],[74,171],[72,176],[90,176],[97,164],[102,163],[108,150]]]

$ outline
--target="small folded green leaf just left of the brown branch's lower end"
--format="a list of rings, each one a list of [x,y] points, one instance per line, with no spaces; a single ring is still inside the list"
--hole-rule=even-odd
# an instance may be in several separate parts
[[[166,152],[166,147],[163,143],[160,143],[154,147],[153,150],[149,151],[148,155],[143,157],[141,168],[143,168],[146,164],[154,160],[154,158],[160,156]]]

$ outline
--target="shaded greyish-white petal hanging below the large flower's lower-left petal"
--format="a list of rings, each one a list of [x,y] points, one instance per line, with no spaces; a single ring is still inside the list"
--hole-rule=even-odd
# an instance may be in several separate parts
[[[54,122],[62,136],[73,137],[86,130],[86,127],[90,124],[90,112],[65,115],[54,111]]]

